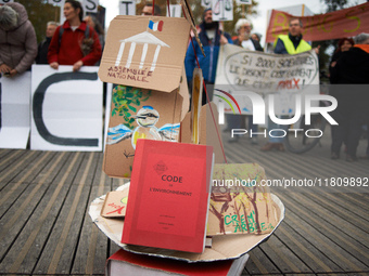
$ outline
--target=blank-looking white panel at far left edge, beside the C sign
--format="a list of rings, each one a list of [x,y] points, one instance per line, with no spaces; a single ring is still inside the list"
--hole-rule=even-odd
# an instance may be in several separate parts
[[[0,147],[26,148],[29,136],[30,71],[0,79]]]

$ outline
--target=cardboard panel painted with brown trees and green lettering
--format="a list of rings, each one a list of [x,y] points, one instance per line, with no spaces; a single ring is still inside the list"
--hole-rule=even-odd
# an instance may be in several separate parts
[[[257,163],[217,163],[206,235],[266,234],[277,225],[264,169]]]

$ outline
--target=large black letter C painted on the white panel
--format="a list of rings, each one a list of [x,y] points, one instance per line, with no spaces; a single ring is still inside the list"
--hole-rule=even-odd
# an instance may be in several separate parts
[[[44,94],[51,84],[68,80],[97,80],[97,73],[56,73],[41,81],[34,94],[33,110],[34,120],[38,133],[51,144],[63,145],[63,146],[98,146],[99,139],[73,139],[73,137],[59,137],[49,132],[44,126],[42,118],[42,107]]]

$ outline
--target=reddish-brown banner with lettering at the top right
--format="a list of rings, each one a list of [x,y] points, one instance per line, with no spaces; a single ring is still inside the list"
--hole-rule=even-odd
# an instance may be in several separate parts
[[[369,32],[369,2],[331,13],[301,17],[272,10],[266,42],[273,42],[279,35],[287,35],[292,17],[301,18],[306,41],[339,39]]]

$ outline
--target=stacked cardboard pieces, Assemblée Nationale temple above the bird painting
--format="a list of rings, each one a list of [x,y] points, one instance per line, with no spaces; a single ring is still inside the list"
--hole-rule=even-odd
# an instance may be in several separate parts
[[[184,18],[116,16],[109,28],[99,77],[112,94],[104,172],[130,178],[138,139],[178,142],[189,109],[183,61]]]

